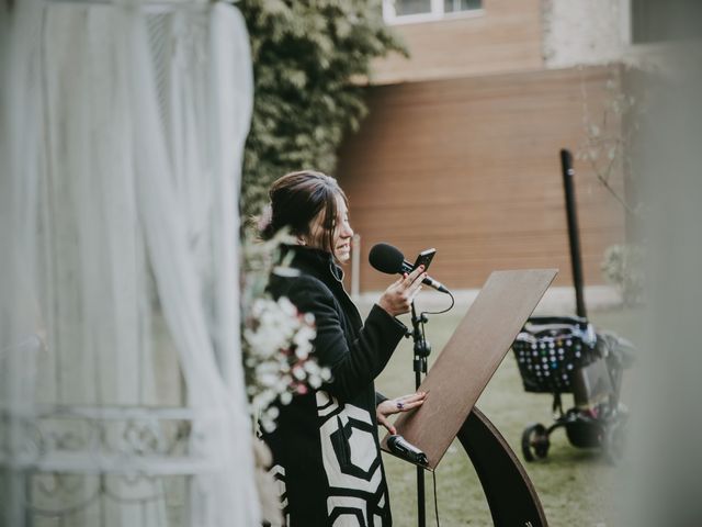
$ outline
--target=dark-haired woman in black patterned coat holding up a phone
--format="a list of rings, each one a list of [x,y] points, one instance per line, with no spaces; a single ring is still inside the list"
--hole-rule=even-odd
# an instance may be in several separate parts
[[[315,315],[315,356],[332,374],[319,390],[281,407],[278,427],[263,435],[287,525],[389,526],[377,425],[395,433],[388,416],[418,407],[426,394],[386,400],[375,393],[373,380],[405,336],[407,328],[395,316],[410,310],[426,273],[419,268],[390,284],[364,323],[338,266],[350,258],[353,231],[337,181],[320,172],[293,172],[276,180],[269,195],[262,237],[287,227],[297,239],[286,247],[291,267],[299,271],[274,276],[270,290]]]

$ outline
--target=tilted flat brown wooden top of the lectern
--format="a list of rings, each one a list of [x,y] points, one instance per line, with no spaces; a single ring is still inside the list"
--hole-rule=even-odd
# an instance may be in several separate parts
[[[437,468],[556,273],[495,271],[485,282],[419,386],[431,392],[424,404],[395,422],[397,434],[427,455],[426,468]]]

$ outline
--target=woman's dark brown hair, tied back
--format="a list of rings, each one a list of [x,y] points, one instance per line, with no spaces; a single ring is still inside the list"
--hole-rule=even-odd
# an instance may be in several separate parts
[[[261,231],[263,239],[272,238],[283,227],[288,227],[294,236],[309,236],[312,221],[324,211],[321,245],[333,255],[337,195],[348,205],[347,195],[336,179],[314,170],[291,172],[276,179],[268,195],[271,217]]]

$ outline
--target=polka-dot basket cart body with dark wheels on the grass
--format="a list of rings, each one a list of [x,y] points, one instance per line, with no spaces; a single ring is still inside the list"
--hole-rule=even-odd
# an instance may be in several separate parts
[[[550,435],[564,427],[571,445],[601,448],[607,459],[621,457],[626,410],[620,403],[622,372],[633,360],[633,346],[613,334],[597,334],[578,316],[531,317],[512,350],[524,390],[553,395],[554,423],[529,425],[522,434],[526,461],[548,455]],[[571,393],[574,406],[564,411]]]

